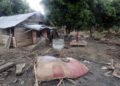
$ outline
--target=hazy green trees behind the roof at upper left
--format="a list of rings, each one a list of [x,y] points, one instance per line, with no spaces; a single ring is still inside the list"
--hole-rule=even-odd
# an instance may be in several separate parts
[[[25,0],[0,0],[0,16],[26,13],[29,10]]]

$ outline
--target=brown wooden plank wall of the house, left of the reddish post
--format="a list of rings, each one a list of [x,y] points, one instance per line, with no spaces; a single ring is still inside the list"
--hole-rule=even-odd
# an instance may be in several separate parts
[[[17,47],[27,46],[33,44],[32,32],[29,31],[25,33],[25,28],[16,27],[15,28],[15,40]]]

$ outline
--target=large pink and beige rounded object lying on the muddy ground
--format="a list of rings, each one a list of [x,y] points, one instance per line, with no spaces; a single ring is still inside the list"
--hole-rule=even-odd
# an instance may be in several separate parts
[[[79,78],[88,72],[88,68],[73,58],[55,58],[42,56],[37,62],[39,81],[50,81],[60,78]]]

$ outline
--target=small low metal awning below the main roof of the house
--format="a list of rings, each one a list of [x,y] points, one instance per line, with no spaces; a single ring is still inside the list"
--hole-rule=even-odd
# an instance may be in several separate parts
[[[24,25],[25,28],[28,28],[28,29],[32,29],[32,30],[43,30],[43,29],[56,29],[55,27],[49,27],[49,26],[46,26],[46,25],[38,25],[38,24],[34,24],[34,25]]]

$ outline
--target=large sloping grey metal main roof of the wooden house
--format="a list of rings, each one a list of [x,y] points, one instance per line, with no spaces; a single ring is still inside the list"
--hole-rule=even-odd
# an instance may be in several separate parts
[[[32,13],[27,13],[27,14],[0,17],[0,29],[14,27],[22,23],[29,17],[33,16],[34,14],[38,14],[38,13],[32,12]]]

